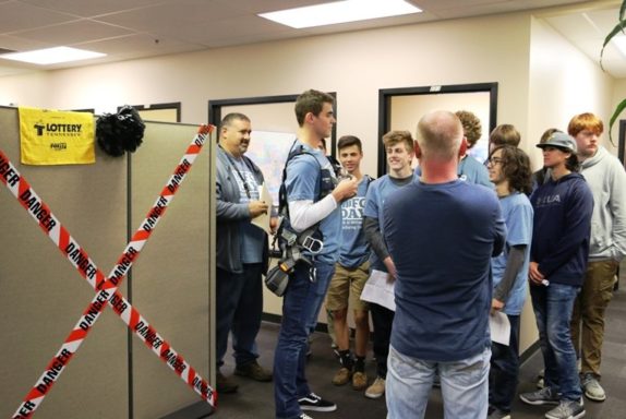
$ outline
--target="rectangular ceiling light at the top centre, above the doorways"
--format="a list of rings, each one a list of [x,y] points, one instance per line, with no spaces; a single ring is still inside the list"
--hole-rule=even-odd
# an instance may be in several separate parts
[[[421,9],[404,0],[344,0],[258,15],[300,29],[420,12]]]

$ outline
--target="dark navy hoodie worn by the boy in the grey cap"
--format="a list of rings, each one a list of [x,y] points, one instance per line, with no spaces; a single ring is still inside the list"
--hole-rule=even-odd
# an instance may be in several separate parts
[[[550,178],[530,197],[534,210],[530,260],[547,280],[580,287],[589,256],[593,195],[580,173]]]

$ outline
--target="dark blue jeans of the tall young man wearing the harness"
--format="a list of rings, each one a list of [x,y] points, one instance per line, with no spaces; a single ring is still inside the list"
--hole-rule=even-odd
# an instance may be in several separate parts
[[[282,323],[274,354],[274,400],[280,419],[300,416],[298,399],[311,393],[304,376],[308,337],[335,272],[333,263],[316,262],[315,267],[316,279],[311,282],[309,267],[299,264],[282,299]]]

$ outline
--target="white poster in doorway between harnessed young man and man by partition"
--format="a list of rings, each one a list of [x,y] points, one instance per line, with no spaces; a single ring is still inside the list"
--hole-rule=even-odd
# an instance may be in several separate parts
[[[278,207],[282,168],[294,140],[296,134],[290,132],[252,131],[245,153],[261,168],[275,207]]]

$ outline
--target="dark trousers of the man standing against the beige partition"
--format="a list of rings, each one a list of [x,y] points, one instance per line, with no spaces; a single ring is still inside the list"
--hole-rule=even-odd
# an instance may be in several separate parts
[[[216,284],[216,358],[224,364],[228,334],[232,332],[234,362],[244,366],[258,358],[256,335],[263,311],[263,264],[244,264],[243,273],[217,268]]]

